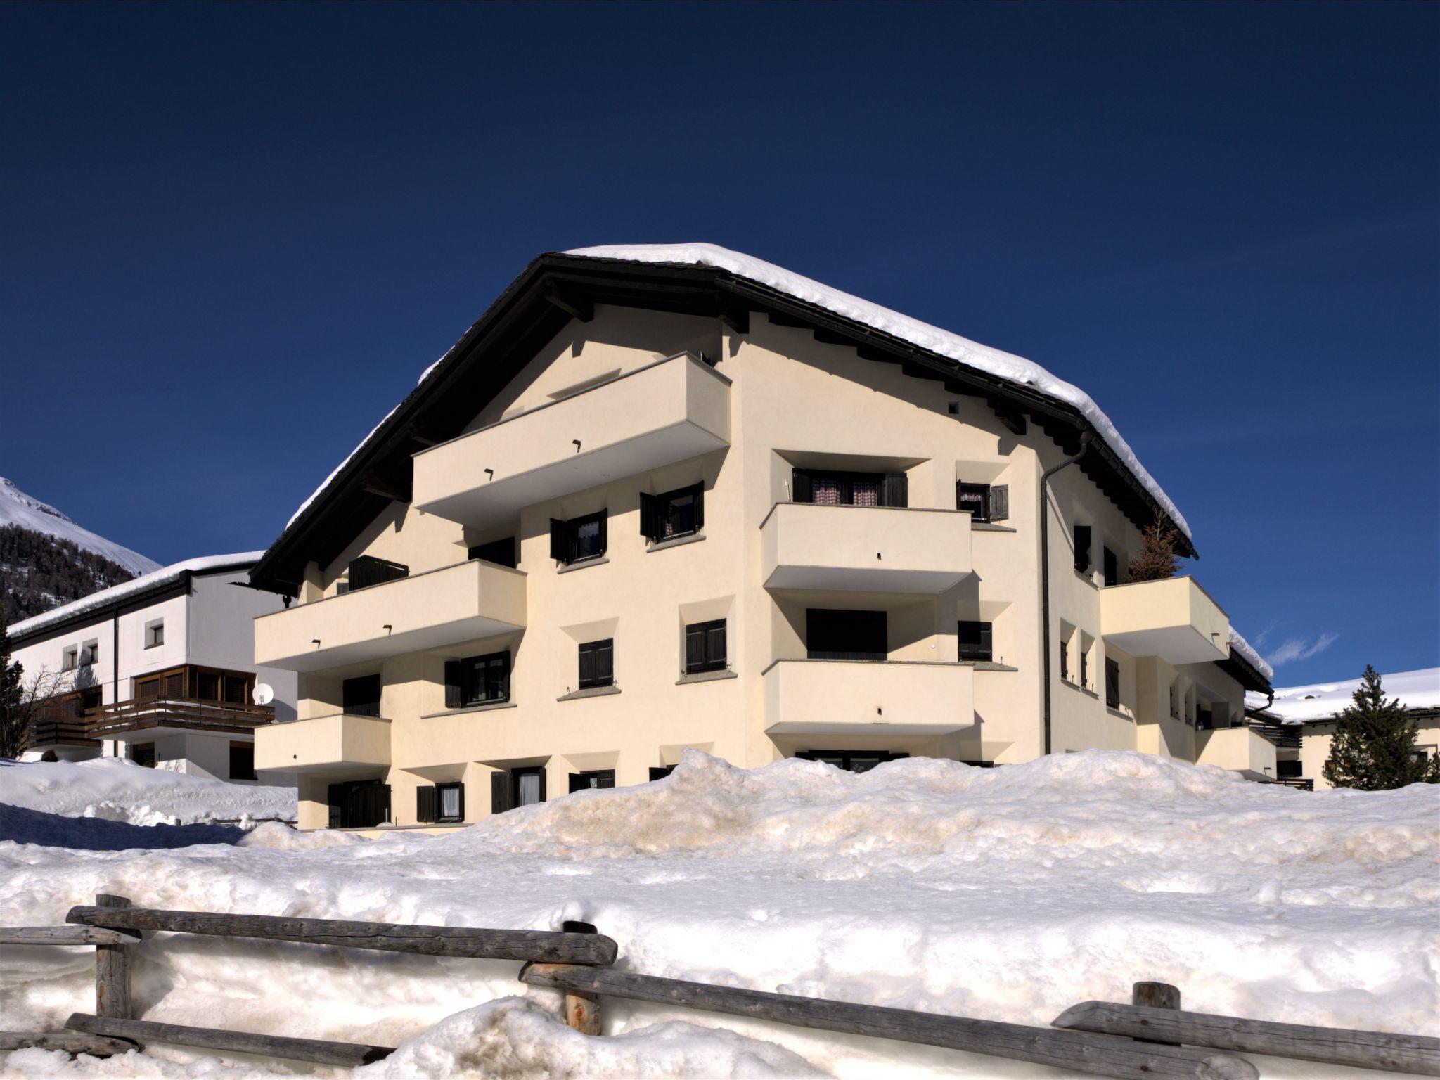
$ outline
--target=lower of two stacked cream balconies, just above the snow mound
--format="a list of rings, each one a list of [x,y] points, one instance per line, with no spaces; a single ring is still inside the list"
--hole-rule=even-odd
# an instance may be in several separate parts
[[[940,736],[975,723],[965,664],[778,660],[763,672],[769,734]]]

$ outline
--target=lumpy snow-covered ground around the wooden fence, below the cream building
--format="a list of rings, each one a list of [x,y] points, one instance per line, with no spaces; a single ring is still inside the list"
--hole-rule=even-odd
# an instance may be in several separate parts
[[[0,924],[59,923],[99,891],[455,926],[575,919],[612,936],[625,969],[845,1001],[1048,1024],[1161,979],[1204,1011],[1440,1034],[1437,824],[1437,786],[1312,793],[1139,753],[1001,769],[907,759],[855,776],[691,752],[665,780],[445,837],[262,825],[233,847],[0,842]],[[147,940],[140,956],[145,1018],[399,1045],[359,1070],[373,1077],[1054,1076],[615,999],[605,1037],[585,1038],[516,963],[183,936]],[[53,1030],[92,1008],[88,950],[12,949],[3,963],[0,1030]],[[174,1064],[200,1057],[156,1047],[69,1064],[19,1051],[0,1073],[281,1071]]]

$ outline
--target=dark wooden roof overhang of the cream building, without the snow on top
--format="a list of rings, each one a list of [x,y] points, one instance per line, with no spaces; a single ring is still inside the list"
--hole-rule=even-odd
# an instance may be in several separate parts
[[[1139,478],[1067,402],[960,364],[864,323],[714,266],[641,264],[549,253],[530,262],[420,383],[317,492],[251,570],[256,586],[297,593],[305,564],[331,562],[395,498],[409,498],[410,455],[455,438],[475,413],[572,318],[589,321],[596,304],[721,320],[747,333],[752,312],[779,325],[811,330],[818,341],[851,346],[865,360],[900,364],[906,374],[942,382],[948,392],[982,397],[1011,431],[1027,419],[1064,454],[1080,449],[1079,468],[1136,527],[1156,516],[1175,526]],[[1198,557],[1184,530],[1178,553]]]

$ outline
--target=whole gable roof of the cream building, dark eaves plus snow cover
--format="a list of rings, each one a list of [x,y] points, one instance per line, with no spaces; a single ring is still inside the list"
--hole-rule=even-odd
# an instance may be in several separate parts
[[[459,435],[572,318],[589,321],[595,304],[708,315],[736,333],[747,333],[750,312],[759,311],[819,341],[852,346],[863,359],[982,397],[1011,431],[1032,422],[1066,454],[1090,432],[1097,438],[1079,468],[1136,526],[1159,514],[1179,533],[1179,553],[1197,557],[1185,518],[1109,418],[1041,366],[724,248],[625,245],[531,261],[301,504],[251,580],[298,592],[305,563],[328,563],[392,500],[409,498],[412,454]]]

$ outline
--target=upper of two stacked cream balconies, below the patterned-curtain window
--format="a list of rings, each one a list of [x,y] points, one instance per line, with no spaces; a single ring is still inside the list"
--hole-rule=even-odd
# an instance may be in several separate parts
[[[760,523],[768,589],[942,593],[971,573],[958,510],[778,503]]]

